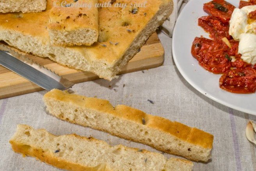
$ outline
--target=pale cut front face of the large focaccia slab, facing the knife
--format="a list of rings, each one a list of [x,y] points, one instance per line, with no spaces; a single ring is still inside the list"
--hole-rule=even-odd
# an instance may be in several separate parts
[[[48,57],[55,62],[62,61],[62,63],[57,63],[63,66],[68,66],[69,68],[92,72],[98,75],[100,78],[104,78],[107,80],[113,79],[110,77],[104,77],[102,75],[102,73],[104,73],[105,75],[112,75],[113,73],[112,68],[109,68],[105,65],[106,61],[89,61],[84,58],[84,56],[82,56],[79,52],[73,50],[72,47],[53,46],[46,42],[41,42],[41,40],[38,40],[31,35],[23,35],[22,33],[13,30],[1,31],[0,37],[7,44],[18,49],[23,49],[20,51],[27,53],[32,52],[32,54],[43,58]],[[85,55],[87,55],[86,52],[84,53]],[[71,63],[74,66],[71,66]],[[94,68],[98,68],[98,70],[95,70]]]

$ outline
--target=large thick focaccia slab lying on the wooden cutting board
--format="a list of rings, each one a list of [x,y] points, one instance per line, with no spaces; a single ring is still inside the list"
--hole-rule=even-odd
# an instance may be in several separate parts
[[[47,0],[44,12],[0,14],[0,40],[21,51],[48,57],[60,65],[95,73],[112,80],[139,51],[149,36],[171,14],[172,0],[147,0],[146,7],[130,7],[141,0],[111,1],[99,8],[99,38],[91,46],[53,46],[47,30],[55,0]],[[99,0],[99,3],[105,1]],[[126,8],[116,7],[127,3]]]

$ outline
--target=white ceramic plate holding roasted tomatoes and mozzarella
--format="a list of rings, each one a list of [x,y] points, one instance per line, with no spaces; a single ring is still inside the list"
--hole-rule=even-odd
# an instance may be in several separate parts
[[[239,0],[227,0],[238,7]],[[256,115],[256,94],[235,94],[219,87],[219,74],[210,73],[202,68],[191,55],[191,46],[195,37],[209,38],[197,25],[197,19],[208,15],[203,4],[210,0],[190,0],[182,10],[174,27],[172,37],[172,55],[181,75],[191,86],[205,96],[236,110]]]

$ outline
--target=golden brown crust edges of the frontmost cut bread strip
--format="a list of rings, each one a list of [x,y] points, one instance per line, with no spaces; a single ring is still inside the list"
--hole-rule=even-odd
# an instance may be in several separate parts
[[[28,125],[18,125],[17,129],[18,129],[18,127],[21,129],[25,129],[26,131],[32,131],[32,129],[33,129],[32,127],[30,127]],[[51,139],[54,139],[55,137],[57,137],[51,133],[48,133],[45,129],[38,129],[36,131],[38,131],[38,132],[40,131],[41,133],[48,134],[51,137]],[[111,147],[105,141],[97,140],[92,137],[87,138],[87,137],[79,136],[76,134],[69,134],[69,135],[64,135],[64,136],[69,137],[69,138],[75,137],[77,139],[84,140],[84,141],[93,141],[93,143],[95,143],[95,144],[105,144],[105,145]],[[19,138],[22,138],[22,137],[19,136],[18,139]],[[87,166],[84,166],[84,165],[81,165],[81,164],[78,164],[75,162],[70,162],[70,161],[68,161],[68,159],[65,160],[63,158],[53,155],[53,153],[49,149],[38,148],[38,147],[36,147],[36,145],[33,146],[31,143],[25,144],[25,143],[19,142],[17,140],[16,135],[14,135],[14,137],[9,141],[9,143],[11,143],[12,149],[14,152],[21,153],[21,154],[23,154],[24,157],[26,155],[36,157],[36,159],[39,159],[40,161],[46,162],[46,163],[48,163],[52,166],[55,166],[57,168],[60,168],[60,169],[67,169],[70,171],[112,171],[112,169],[108,168],[107,163],[101,163],[95,167],[87,167]],[[138,152],[138,150],[140,150],[138,148],[130,148],[130,147],[125,147],[123,145],[117,145],[116,147],[124,148],[125,150],[131,150],[133,152]],[[159,153],[149,152],[148,150],[141,150],[140,153],[150,153],[150,154],[159,155],[159,156],[161,155]],[[193,167],[193,163],[190,161],[187,161],[187,160],[175,159],[175,158],[170,158],[169,160],[183,162],[184,164],[190,165],[191,168]]]

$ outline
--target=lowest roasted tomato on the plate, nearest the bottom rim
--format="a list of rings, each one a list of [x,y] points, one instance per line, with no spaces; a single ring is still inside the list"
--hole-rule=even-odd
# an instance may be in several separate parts
[[[235,93],[253,93],[256,90],[256,70],[235,68],[224,73],[219,80],[220,88]]]

